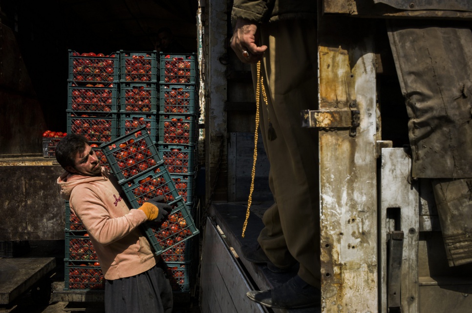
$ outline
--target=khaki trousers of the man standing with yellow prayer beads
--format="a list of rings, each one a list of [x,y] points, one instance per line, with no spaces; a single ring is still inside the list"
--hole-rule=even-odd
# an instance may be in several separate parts
[[[300,277],[320,287],[318,133],[300,126],[300,111],[318,103],[316,21],[279,21],[260,30],[269,47],[261,62],[269,105],[261,99],[259,125],[275,204],[263,216],[258,242],[276,266],[293,265],[295,258]],[[252,72],[256,86],[256,65]]]

